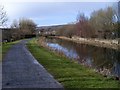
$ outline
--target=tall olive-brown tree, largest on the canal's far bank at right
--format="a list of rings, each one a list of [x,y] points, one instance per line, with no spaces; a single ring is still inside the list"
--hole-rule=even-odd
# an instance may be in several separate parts
[[[115,12],[112,7],[100,9],[91,14],[90,24],[100,37],[106,39],[111,38],[113,27],[113,16]]]

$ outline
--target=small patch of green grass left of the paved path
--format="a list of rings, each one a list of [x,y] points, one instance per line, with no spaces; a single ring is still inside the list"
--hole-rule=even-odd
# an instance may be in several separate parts
[[[4,58],[5,54],[12,47],[12,45],[18,43],[19,41],[20,40],[14,41],[14,42],[8,42],[8,43],[2,44],[2,46],[0,46],[0,51],[1,51],[0,52],[0,58],[1,58],[1,60],[2,60],[2,58]]]

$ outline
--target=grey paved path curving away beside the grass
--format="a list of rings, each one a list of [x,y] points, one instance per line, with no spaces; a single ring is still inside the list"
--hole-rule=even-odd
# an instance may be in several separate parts
[[[14,45],[2,63],[3,88],[62,88],[31,53],[27,40]]]

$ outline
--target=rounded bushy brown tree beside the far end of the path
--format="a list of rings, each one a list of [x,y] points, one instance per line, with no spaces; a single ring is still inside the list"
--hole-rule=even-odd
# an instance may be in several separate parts
[[[21,39],[35,35],[36,24],[27,18],[21,18],[19,21],[14,20],[11,24],[12,39]]]

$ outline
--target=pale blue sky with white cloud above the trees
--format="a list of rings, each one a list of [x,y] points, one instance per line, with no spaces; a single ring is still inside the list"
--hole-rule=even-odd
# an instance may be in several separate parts
[[[90,17],[91,12],[113,6],[117,0],[2,0],[8,16],[8,26],[13,20],[32,19],[38,26],[67,24],[76,21],[78,13]]]

